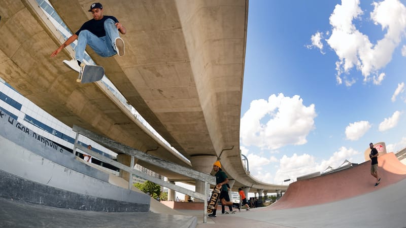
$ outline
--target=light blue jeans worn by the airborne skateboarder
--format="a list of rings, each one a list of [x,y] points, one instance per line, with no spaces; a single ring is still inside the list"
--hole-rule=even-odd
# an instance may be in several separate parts
[[[106,36],[103,37],[97,37],[89,30],[82,30],[79,32],[75,55],[76,60],[79,60],[80,62],[83,61],[86,45],[89,45],[94,52],[101,57],[110,57],[117,54],[113,48],[113,44],[116,38],[120,37],[120,35],[118,34],[118,29],[112,19],[109,18],[105,21],[105,30]]]

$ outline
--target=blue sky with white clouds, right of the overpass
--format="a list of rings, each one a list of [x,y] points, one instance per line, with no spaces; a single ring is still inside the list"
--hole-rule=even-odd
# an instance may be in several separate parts
[[[406,147],[406,1],[250,1],[240,142],[268,183]]]

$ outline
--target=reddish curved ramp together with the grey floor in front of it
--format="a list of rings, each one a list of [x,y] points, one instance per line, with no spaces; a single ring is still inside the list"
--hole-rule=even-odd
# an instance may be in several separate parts
[[[393,153],[379,157],[381,183],[370,161],[289,185],[275,204],[197,227],[406,227],[406,166]]]

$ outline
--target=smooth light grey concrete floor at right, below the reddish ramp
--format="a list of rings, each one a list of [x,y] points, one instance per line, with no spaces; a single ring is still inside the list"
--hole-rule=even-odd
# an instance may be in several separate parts
[[[285,210],[217,215],[197,227],[406,227],[406,179],[350,199]],[[317,195],[317,192],[315,192]]]

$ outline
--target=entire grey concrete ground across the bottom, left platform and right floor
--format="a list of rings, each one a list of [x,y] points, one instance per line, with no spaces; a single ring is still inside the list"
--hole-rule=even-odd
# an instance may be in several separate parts
[[[203,212],[187,215],[94,212],[29,205],[0,198],[1,227],[406,227],[406,179],[350,199],[285,210],[269,207],[203,222]],[[315,192],[317,194],[317,192]],[[197,221],[196,221],[197,218]]]

